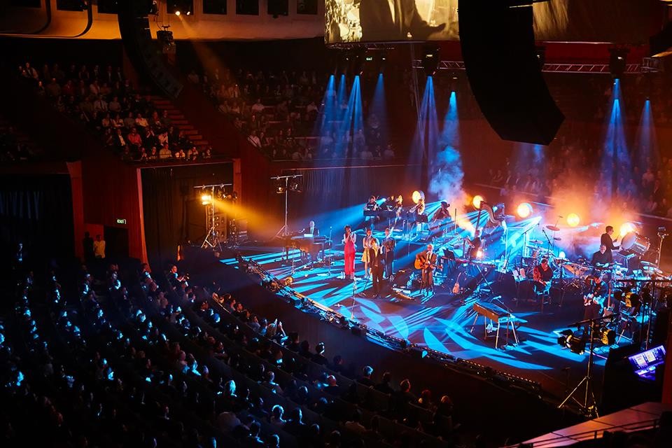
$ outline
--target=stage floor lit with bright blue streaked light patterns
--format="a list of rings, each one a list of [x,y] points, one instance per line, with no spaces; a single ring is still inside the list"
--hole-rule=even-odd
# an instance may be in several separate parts
[[[405,257],[395,263],[395,271],[412,269],[410,260],[414,252],[423,248],[410,244],[403,248]],[[571,391],[586,373],[588,354],[572,353],[557,343],[558,333],[566,330],[571,323],[580,321],[584,307],[582,295],[569,289],[559,306],[560,291],[552,289],[551,304],[545,305],[543,312],[538,302],[517,300],[516,289],[506,282],[507,279],[494,282],[493,293],[482,297],[483,300],[495,300],[493,304],[507,307],[520,321],[517,328],[519,344],[514,345],[512,332],[502,325],[499,335],[500,348],[496,349],[494,333],[484,338],[484,318],[479,316],[473,332],[475,314],[474,302],[477,294],[457,297],[451,293],[453,284],[437,286],[435,294],[426,297],[419,291],[409,291],[409,297],[393,294],[387,297],[372,297],[371,281],[363,279],[363,262],[356,260],[358,279],[343,279],[342,251],[333,251],[330,267],[309,268],[300,262],[300,254],[290,255],[295,265],[287,265],[282,260],[282,250],[274,246],[243,246],[239,248],[244,258],[258,262],[268,272],[279,279],[293,276],[292,288],[298,293],[319,302],[354,321],[363,323],[386,335],[408,339],[418,346],[426,346],[435,351],[449,353],[456,358],[472,360],[475,363],[493,367],[496,370],[538,381],[544,391],[559,401]],[[236,260],[221,260],[235,264]],[[405,265],[402,262],[405,261]],[[292,269],[295,269],[292,274]],[[495,274],[497,275],[497,274]],[[508,277],[511,277],[508,274]],[[451,281],[447,282],[451,283]],[[521,296],[528,295],[521,292]],[[526,297],[521,297],[521,299]],[[500,300],[501,302],[498,302]],[[506,343],[509,343],[503,346]],[[628,344],[622,339],[622,344]],[[607,356],[608,346],[598,347],[596,353]],[[601,378],[605,360],[596,356],[594,388],[601,395]],[[582,396],[582,395],[579,395]]]

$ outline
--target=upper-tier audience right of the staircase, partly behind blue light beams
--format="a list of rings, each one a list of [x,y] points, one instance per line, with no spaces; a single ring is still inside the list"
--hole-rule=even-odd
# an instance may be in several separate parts
[[[330,73],[315,71],[191,71],[216,109],[230,118],[248,141],[276,160],[361,158],[393,159],[386,123],[364,102],[364,122],[344,129],[347,99],[325,98]],[[324,103],[324,104],[323,104]],[[334,111],[325,116],[326,109]]]

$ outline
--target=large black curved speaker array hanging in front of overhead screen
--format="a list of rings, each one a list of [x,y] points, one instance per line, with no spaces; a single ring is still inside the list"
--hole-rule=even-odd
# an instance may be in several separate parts
[[[541,74],[532,7],[521,3],[460,0],[462,57],[476,101],[499,137],[547,145],[565,117]]]

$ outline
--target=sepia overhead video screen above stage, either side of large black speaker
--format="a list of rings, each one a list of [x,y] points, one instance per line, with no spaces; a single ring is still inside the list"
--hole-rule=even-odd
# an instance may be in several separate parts
[[[326,43],[358,41],[457,41],[458,0],[325,0]],[[505,1],[505,0],[496,0]],[[514,1],[512,1],[514,3]],[[534,3],[535,37],[540,41],[647,42],[657,0],[550,0]],[[416,20],[419,19],[419,20]],[[496,43],[493,43],[495,45]]]

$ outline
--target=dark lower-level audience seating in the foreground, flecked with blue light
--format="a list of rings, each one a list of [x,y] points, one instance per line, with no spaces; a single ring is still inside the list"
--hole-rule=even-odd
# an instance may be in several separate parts
[[[98,271],[104,267],[96,265]],[[64,275],[64,286],[59,282]],[[443,447],[447,396],[253,316],[176,268],[15,269],[0,324],[3,446]],[[6,297],[9,299],[10,297]],[[337,348],[335,348],[337,350]],[[455,425],[458,426],[458,425]]]

